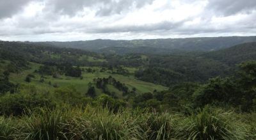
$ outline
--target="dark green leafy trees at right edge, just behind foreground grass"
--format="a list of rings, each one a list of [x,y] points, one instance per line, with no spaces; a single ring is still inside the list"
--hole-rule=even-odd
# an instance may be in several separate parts
[[[256,62],[241,63],[239,68],[236,77],[217,77],[204,84],[194,94],[195,103],[199,106],[231,105],[241,111],[252,111],[256,98]]]

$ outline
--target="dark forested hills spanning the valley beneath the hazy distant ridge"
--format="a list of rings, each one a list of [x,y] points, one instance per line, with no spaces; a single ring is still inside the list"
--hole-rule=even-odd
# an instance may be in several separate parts
[[[117,53],[122,54],[124,50],[122,47],[119,48]],[[62,67],[66,64],[98,66],[98,69],[108,66],[133,67],[136,70],[132,74],[137,79],[163,86],[188,81],[205,82],[212,77],[230,75],[234,72],[236,64],[256,59],[255,43],[243,43],[220,51],[175,52],[164,55],[164,52],[157,49],[153,49],[155,52],[147,53],[148,47],[138,47],[136,51],[140,52],[140,48],[143,55],[131,51],[130,47],[125,47],[125,52],[131,54],[118,55],[112,52],[113,54],[105,55],[79,49],[59,48],[54,45],[45,46],[44,43],[1,42],[0,57],[11,63],[5,66],[12,72],[17,72],[20,68],[26,69],[27,61],[53,66],[53,69],[57,66],[56,72],[60,74],[65,71]],[[104,50],[111,51],[107,48]],[[52,75],[52,72],[47,74]]]

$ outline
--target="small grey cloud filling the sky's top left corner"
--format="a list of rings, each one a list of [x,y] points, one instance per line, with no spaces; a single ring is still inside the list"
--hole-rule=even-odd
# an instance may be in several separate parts
[[[13,14],[22,10],[22,7],[31,0],[0,0],[0,19],[12,17]]]

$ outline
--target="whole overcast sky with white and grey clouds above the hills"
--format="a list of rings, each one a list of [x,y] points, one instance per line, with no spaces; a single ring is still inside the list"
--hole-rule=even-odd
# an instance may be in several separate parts
[[[0,0],[0,40],[256,35],[256,0]]]

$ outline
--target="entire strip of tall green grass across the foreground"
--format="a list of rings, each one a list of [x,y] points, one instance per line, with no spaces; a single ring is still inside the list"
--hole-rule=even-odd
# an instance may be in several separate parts
[[[0,118],[0,139],[255,139],[255,130],[255,125],[249,127],[236,114],[209,107],[182,116],[67,106]]]

